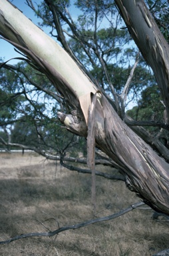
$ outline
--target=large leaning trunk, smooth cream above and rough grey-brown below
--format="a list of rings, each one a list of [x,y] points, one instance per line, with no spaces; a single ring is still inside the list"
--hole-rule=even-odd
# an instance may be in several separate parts
[[[168,163],[118,117],[110,102],[97,91],[71,57],[6,0],[0,2],[0,33],[53,81],[67,104],[83,114],[59,113],[68,129],[86,137],[90,125],[88,107],[95,109],[96,146],[122,171],[129,189],[156,211],[169,215]]]

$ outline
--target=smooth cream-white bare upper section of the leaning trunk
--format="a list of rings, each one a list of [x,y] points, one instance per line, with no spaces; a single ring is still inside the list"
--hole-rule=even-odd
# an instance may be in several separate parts
[[[0,33],[10,41],[27,47],[56,69],[73,88],[78,99],[96,92],[96,87],[69,54],[6,0],[0,1]]]

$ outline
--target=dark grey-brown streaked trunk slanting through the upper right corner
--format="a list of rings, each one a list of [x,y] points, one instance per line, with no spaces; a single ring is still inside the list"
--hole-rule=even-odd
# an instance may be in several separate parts
[[[114,0],[142,56],[152,68],[169,123],[169,45],[143,0]]]

